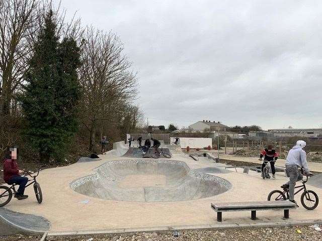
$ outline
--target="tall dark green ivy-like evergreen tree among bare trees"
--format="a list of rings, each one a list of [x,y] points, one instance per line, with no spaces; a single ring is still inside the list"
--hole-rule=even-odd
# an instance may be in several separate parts
[[[25,91],[19,97],[26,117],[24,134],[41,161],[51,157],[61,161],[77,131],[79,48],[73,39],[58,40],[50,11],[25,73]]]

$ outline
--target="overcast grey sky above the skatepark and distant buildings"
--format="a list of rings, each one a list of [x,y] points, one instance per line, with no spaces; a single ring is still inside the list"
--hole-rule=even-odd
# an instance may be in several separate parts
[[[150,125],[318,128],[322,1],[63,0],[117,33]]]

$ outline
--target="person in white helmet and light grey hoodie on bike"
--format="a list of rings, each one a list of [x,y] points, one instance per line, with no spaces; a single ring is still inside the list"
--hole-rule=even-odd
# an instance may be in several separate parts
[[[306,146],[306,142],[299,140],[296,142],[295,146],[289,150],[285,162],[286,173],[289,175],[290,180],[283,184],[281,188],[289,188],[290,201],[294,202],[294,187],[297,181],[303,179],[303,175],[298,170],[303,167],[306,175],[312,176],[306,162],[306,152],[303,148]]]

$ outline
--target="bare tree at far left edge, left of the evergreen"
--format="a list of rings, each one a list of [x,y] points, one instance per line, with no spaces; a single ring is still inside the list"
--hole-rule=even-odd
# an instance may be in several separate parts
[[[12,94],[23,81],[32,49],[35,0],[0,1],[0,114],[8,114]]]

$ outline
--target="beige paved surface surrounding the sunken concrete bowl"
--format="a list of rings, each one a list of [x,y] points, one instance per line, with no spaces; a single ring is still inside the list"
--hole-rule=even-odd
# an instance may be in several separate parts
[[[77,193],[70,188],[70,183],[79,178],[96,174],[96,168],[106,162],[127,160],[113,155],[101,155],[101,160],[95,162],[75,163],[66,167],[46,169],[40,172],[37,180],[41,184],[44,200],[38,204],[33,190],[27,189],[30,198],[18,201],[12,200],[6,208],[22,213],[42,216],[50,221],[50,231],[100,231],[100,230],[164,230],[164,227],[179,228],[189,226],[220,227],[221,225],[261,224],[261,223],[289,223],[307,220],[320,220],[322,206],[308,211],[300,206],[290,210],[290,219],[284,220],[280,211],[259,211],[258,219],[250,219],[249,212],[228,212],[224,215],[222,224],[216,222],[215,213],[210,203],[229,201],[263,201],[268,193],[279,189],[287,178],[278,174],[276,179],[263,180],[259,173],[241,171],[217,173],[215,175],[228,180],[232,188],[222,194],[187,201],[176,202],[130,202],[107,200],[90,197]],[[144,159],[148,160],[148,159]],[[182,155],[174,156],[174,161],[185,162],[190,169],[219,167],[211,159],[194,161]],[[130,178],[131,179],[131,178]],[[151,182],[153,178],[145,180]],[[133,180],[133,179],[131,179]],[[142,183],[145,181],[142,180]],[[162,178],[160,178],[162,181]],[[131,182],[131,181],[130,181]],[[124,180],[123,185],[128,185]],[[138,182],[133,183],[137,185]],[[322,189],[307,186],[322,197]],[[295,196],[298,203],[299,195]],[[237,224],[236,224],[237,223]]]

